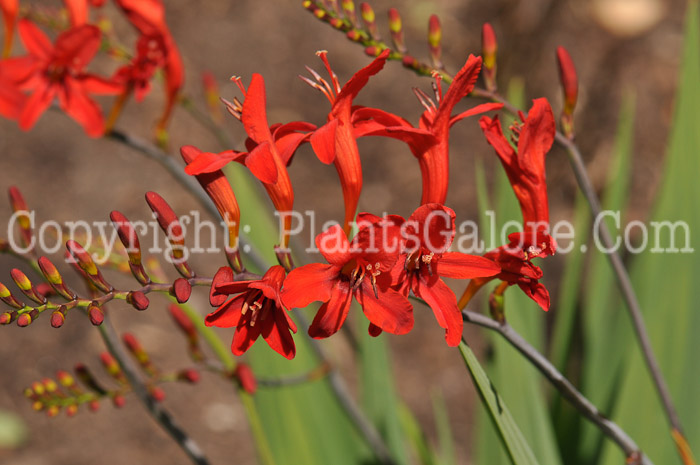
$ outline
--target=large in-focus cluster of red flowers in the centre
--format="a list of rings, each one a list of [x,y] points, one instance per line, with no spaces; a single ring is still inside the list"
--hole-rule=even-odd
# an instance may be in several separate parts
[[[282,218],[293,208],[294,191],[287,172],[294,154],[309,142],[318,159],[333,163],[342,186],[342,221],[316,237],[316,246],[325,263],[295,268],[291,259],[278,253],[280,265],[271,267],[259,279],[244,279],[240,257],[229,259],[231,268],[217,273],[211,288],[211,305],[206,324],[236,327],[232,351],[243,354],[262,336],[275,351],[287,358],[295,355],[292,333],[297,328],[288,309],[305,308],[321,302],[309,327],[309,335],[325,338],[335,334],[345,322],[353,299],[369,320],[369,333],[386,331],[405,334],[413,327],[412,294],[424,301],[445,330],[448,345],[456,346],[462,337],[461,308],[484,284],[497,279],[505,288],[518,284],[543,309],[549,308],[547,290],[539,282],[542,270],[532,263],[536,257],[554,253],[549,236],[547,187],[544,157],[555,134],[552,111],[544,99],[534,102],[527,118],[514,123],[513,147],[504,136],[498,117],[480,120],[486,140],[506,170],[520,201],[524,229],[509,236],[509,244],[485,256],[451,252],[455,235],[455,213],[444,205],[448,190],[449,130],[456,122],[473,115],[499,110],[502,105],[487,103],[459,114],[455,105],[474,89],[482,65],[480,57],[469,56],[449,88],[435,75],[435,100],[416,91],[425,107],[419,124],[378,108],[354,105],[353,100],[370,78],[381,71],[389,51],[379,53],[341,85],[333,72],[327,52],[318,52],[329,79],[309,69],[312,78],[302,77],[325,95],[331,104],[325,123],[303,121],[285,124],[268,122],[263,77],[254,74],[246,88],[238,85],[243,100],[225,101],[229,112],[243,123],[248,135],[246,151],[204,152],[183,147],[185,171],[196,176],[214,200],[229,227],[230,244],[237,244],[240,210],[222,167],[230,162],[245,165],[263,184]],[[357,139],[364,136],[391,137],[406,143],[418,160],[423,181],[420,206],[408,218],[397,215],[378,217],[369,213],[356,216],[362,190],[362,165]],[[291,221],[291,219],[289,219]],[[290,223],[283,222],[277,250],[287,250]],[[353,226],[356,233],[352,235]],[[237,253],[237,251],[236,251]],[[229,257],[231,258],[231,257]],[[457,301],[443,278],[469,279],[465,296]]]

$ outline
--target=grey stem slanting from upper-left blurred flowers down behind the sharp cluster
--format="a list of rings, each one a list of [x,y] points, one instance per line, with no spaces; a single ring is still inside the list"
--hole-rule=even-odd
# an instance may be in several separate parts
[[[175,178],[178,183],[180,183],[182,187],[184,187],[195,199],[197,199],[197,201],[207,210],[207,212],[209,212],[209,214],[211,214],[214,218],[220,218],[219,212],[214,206],[214,202],[212,202],[206,195],[197,181],[193,179],[192,176],[188,176],[183,170],[182,166],[167,153],[163,152],[157,146],[144,139],[134,137],[117,129],[112,130],[105,137],[116,142],[120,142],[141,153],[142,155],[146,155],[146,157],[150,158],[151,160],[158,162],[168,173],[170,173],[173,178]],[[244,237],[244,234],[241,234],[239,240],[241,243],[241,249],[249,250],[249,252],[246,252],[246,257],[260,270],[266,270],[268,267],[266,266],[267,263],[265,259],[262,258],[262,255],[260,255],[255,247],[252,247],[249,241]]]

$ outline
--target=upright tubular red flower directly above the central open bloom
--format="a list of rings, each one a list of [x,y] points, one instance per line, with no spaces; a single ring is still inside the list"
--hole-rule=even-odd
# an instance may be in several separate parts
[[[331,102],[328,122],[313,133],[311,146],[319,160],[326,164],[333,163],[338,171],[345,201],[343,229],[346,234],[349,234],[350,223],[355,218],[362,191],[362,166],[357,148],[357,136],[353,133],[352,118],[355,108],[352,106],[352,101],[367,84],[369,78],[384,67],[389,57],[389,50],[384,50],[372,63],[355,73],[342,88],[328,63],[326,54],[325,51],[317,52],[331,77],[332,86],[315,72],[312,74],[317,82],[303,78],[312,87],[323,92]]]

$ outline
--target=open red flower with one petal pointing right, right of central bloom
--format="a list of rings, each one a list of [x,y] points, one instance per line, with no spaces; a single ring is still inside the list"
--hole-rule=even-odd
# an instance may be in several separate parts
[[[394,287],[406,296],[412,290],[425,300],[445,328],[447,344],[457,346],[462,338],[462,313],[454,292],[441,277],[481,278],[501,269],[488,258],[447,251],[455,235],[455,213],[450,208],[423,205],[408,218],[403,230],[407,240],[391,272]]]

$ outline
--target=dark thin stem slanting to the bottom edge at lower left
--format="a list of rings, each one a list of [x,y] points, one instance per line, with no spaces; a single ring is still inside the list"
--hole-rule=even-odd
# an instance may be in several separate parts
[[[199,445],[187,435],[173,420],[170,414],[160,406],[155,399],[148,393],[148,388],[138,376],[138,370],[134,366],[129,356],[124,352],[124,349],[119,342],[119,337],[114,331],[114,327],[110,323],[107,315],[104,317],[102,325],[99,326],[100,335],[107,346],[107,350],[117,360],[119,365],[129,381],[134,394],[146,407],[148,413],[153,419],[165,430],[168,435],[182,448],[187,456],[197,465],[209,465],[209,460],[204,456]]]

